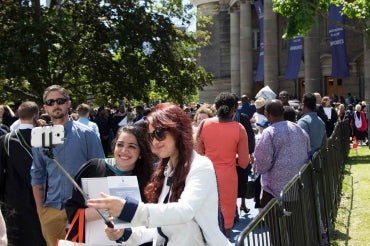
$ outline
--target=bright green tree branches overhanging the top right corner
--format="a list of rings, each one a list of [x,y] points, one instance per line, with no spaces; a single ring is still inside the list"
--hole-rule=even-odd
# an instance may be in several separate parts
[[[369,0],[273,0],[275,12],[287,17],[288,24],[284,37],[306,36],[316,21],[316,15],[327,16],[331,4],[342,5],[342,14],[357,20],[351,28],[362,33],[364,45],[365,100],[370,101],[370,1]]]

